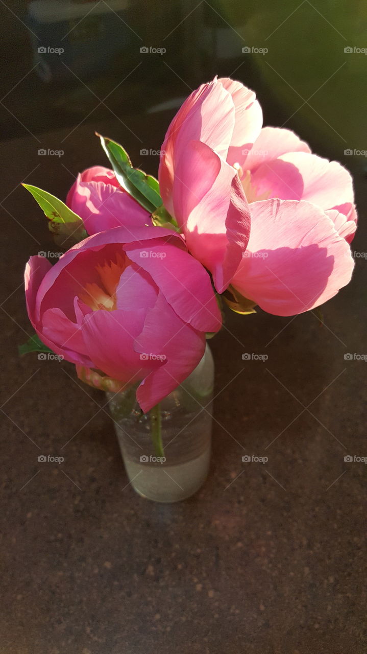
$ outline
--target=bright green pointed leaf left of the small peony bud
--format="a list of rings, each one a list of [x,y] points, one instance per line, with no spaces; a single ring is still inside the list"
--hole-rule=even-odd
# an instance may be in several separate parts
[[[57,245],[67,249],[86,239],[88,233],[84,229],[82,218],[71,211],[67,205],[37,186],[31,186],[31,184],[23,184],[23,186],[33,195],[50,221],[48,228],[55,235]]]

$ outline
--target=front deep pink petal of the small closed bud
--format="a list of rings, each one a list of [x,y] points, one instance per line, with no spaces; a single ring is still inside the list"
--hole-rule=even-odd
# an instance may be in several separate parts
[[[103,182],[78,182],[69,207],[80,218],[89,235],[121,225],[150,224],[148,211],[116,186]]]

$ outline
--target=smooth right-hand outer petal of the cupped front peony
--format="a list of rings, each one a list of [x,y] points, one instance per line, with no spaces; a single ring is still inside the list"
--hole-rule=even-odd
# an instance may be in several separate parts
[[[204,267],[176,247],[174,241],[154,239],[124,246],[129,259],[146,270],[174,311],[202,332],[221,328],[221,313]]]

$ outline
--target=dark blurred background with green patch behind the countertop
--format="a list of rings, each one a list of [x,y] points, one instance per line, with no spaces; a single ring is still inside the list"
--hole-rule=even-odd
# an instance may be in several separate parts
[[[1,1],[1,139],[173,114],[218,74],[257,92],[264,124],[343,160],[367,148],[366,14],[362,0]]]

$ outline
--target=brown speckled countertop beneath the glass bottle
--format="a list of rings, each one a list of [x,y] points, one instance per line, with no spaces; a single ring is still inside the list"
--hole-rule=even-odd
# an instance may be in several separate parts
[[[156,148],[166,124],[136,120],[143,145],[121,124],[95,127],[142,165],[140,147]],[[56,248],[14,187],[28,176],[65,197],[71,173],[105,163],[93,127],[61,145],[67,133],[1,145],[0,653],[364,654],[367,467],[344,456],[367,455],[367,364],[344,354],[367,353],[366,259],[325,305],[324,328],[311,314],[227,315],[212,341],[210,477],[180,504],[143,500],[127,485],[103,394],[79,386],[69,364],[16,353],[31,334],[24,264]],[[65,155],[40,158],[39,147]],[[155,158],[145,163],[157,169]],[[357,252],[365,234],[362,224]],[[38,463],[67,441],[63,464]],[[268,462],[243,464],[244,454]]]

